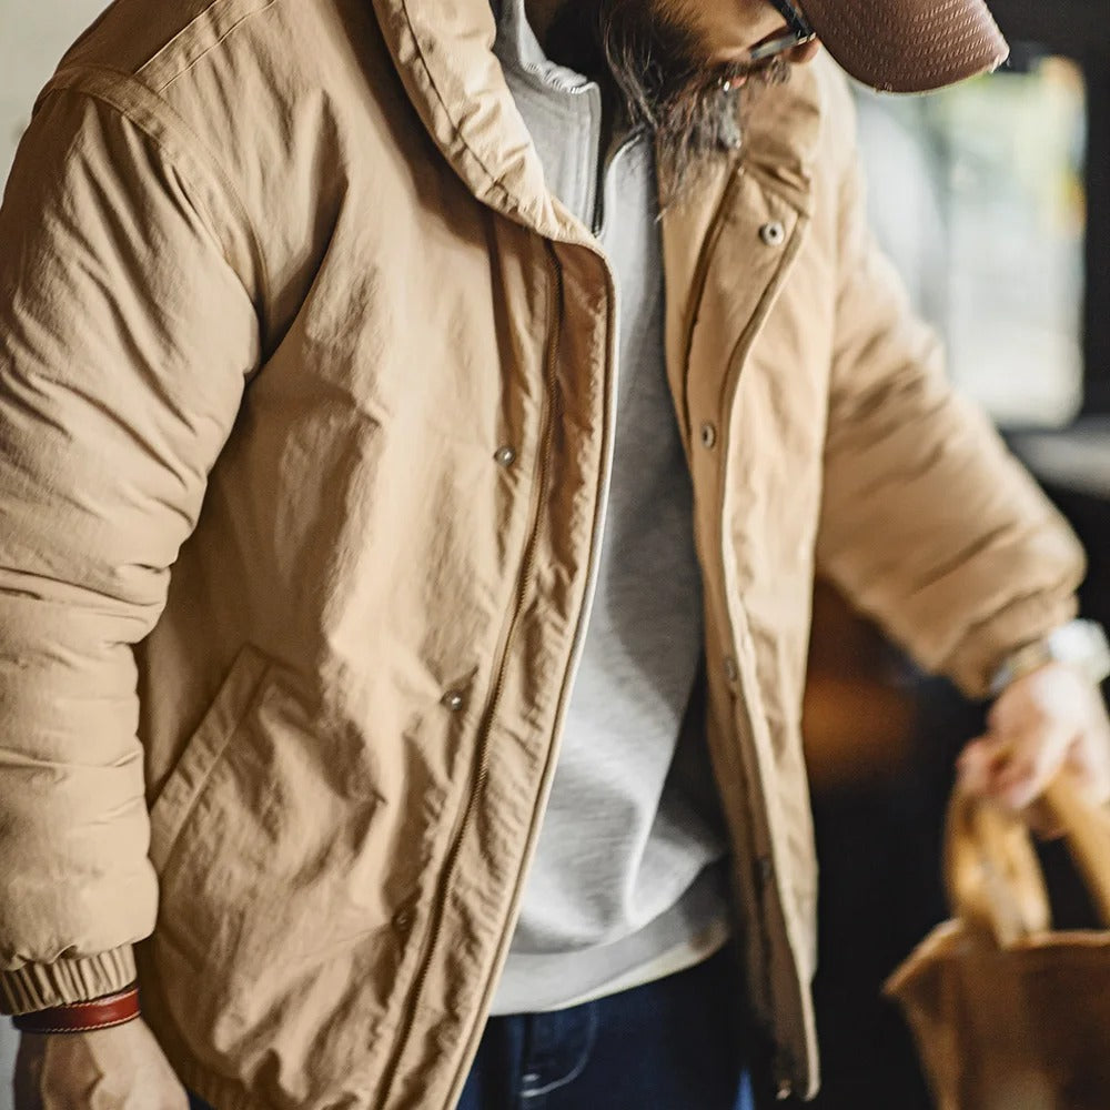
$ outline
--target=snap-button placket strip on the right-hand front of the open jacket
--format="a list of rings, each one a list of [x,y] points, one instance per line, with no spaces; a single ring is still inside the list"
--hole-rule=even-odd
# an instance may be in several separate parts
[[[801,246],[807,202],[793,189],[774,188],[758,169],[735,169],[698,260],[683,389],[675,397],[689,443],[705,578],[710,755],[734,847],[734,881],[748,911],[743,938],[747,989],[776,1032],[783,1098],[795,1086],[807,1088],[816,1070],[816,1061],[806,1063],[814,1053],[811,1003],[794,953],[779,939],[800,930],[781,878],[788,867],[781,861],[786,830],[777,770],[744,598],[728,581],[724,521],[739,382]]]

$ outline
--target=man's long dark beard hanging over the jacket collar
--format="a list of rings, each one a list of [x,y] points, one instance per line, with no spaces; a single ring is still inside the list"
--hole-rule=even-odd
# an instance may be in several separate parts
[[[655,132],[664,206],[706,157],[740,145],[740,97],[754,80],[780,84],[790,65],[714,64],[668,0],[566,0],[547,40],[553,61],[610,81],[634,127]]]

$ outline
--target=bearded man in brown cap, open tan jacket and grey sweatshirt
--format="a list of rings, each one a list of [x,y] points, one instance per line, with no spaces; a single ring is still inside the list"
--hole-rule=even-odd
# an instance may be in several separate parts
[[[118,0],[67,56],[0,211],[20,1110],[712,1110],[755,1030],[811,1094],[818,564],[1001,694],[969,789],[1110,794],[1081,553],[814,60],[1005,44],[804,9]]]

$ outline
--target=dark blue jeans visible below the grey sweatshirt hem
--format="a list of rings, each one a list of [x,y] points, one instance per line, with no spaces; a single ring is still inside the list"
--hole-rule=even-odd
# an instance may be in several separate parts
[[[729,947],[597,1002],[491,1018],[458,1110],[754,1110],[734,960]]]

